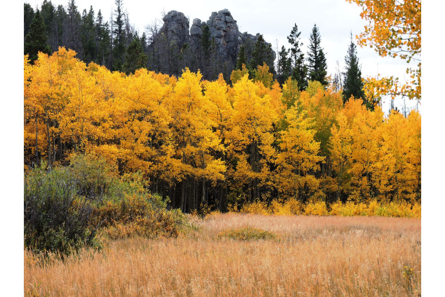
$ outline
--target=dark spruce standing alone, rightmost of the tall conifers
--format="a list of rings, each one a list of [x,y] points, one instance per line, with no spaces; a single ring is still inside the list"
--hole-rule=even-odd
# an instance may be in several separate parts
[[[348,54],[345,56],[345,78],[343,84],[343,102],[354,96],[356,99],[363,99],[363,103],[369,108],[369,103],[365,98],[363,91],[362,71],[357,57],[357,46],[354,44],[351,32],[351,43],[349,44]]]

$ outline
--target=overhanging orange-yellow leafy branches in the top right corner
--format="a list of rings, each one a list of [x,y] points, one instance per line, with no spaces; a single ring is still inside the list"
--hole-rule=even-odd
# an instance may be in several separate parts
[[[380,56],[397,56],[409,63],[417,62],[417,68],[406,68],[405,83],[398,77],[371,77],[365,80],[368,98],[390,95],[422,99],[422,3],[421,0],[372,1],[347,0],[363,8],[360,14],[368,21],[365,31],[357,35],[358,44],[374,48]]]

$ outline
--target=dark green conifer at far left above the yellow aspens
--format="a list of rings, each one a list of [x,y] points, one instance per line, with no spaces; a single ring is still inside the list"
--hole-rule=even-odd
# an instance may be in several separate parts
[[[50,54],[51,48],[47,44],[48,36],[46,34],[45,22],[43,21],[40,11],[37,10],[34,19],[30,25],[30,31],[25,37],[24,54],[29,54],[31,63],[37,60],[37,54],[42,52]]]

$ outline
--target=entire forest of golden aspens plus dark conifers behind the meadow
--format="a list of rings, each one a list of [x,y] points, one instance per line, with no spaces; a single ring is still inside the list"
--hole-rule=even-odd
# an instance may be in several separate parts
[[[197,53],[159,41],[162,27],[140,36],[120,0],[113,17],[111,29],[74,0],[36,12],[24,4],[25,172],[88,155],[117,175],[138,173],[183,212],[290,198],[421,202],[421,115],[385,115],[352,34],[345,71],[328,76],[316,25],[307,57],[295,25],[276,63],[259,35],[229,67],[205,27]],[[167,56],[178,67],[156,68]],[[420,101],[420,83],[413,90]]]

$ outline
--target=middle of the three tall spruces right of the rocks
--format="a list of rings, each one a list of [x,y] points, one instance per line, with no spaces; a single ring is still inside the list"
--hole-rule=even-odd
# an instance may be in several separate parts
[[[327,65],[326,57],[321,47],[321,36],[317,25],[312,28],[311,36],[309,37],[310,45],[307,52],[307,61],[309,62],[309,79],[320,81],[321,84],[326,86],[328,81],[326,80]]]

